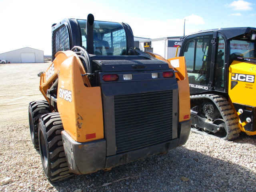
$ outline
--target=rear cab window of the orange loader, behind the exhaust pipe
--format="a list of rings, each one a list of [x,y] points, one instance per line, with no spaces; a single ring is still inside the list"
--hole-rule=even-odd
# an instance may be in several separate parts
[[[82,35],[82,46],[86,48],[86,20],[78,20]],[[94,54],[125,55],[126,33],[119,23],[94,22]]]

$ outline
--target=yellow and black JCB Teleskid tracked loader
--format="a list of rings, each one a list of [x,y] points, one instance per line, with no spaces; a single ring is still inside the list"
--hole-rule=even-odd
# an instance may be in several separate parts
[[[220,28],[182,41],[192,131],[223,140],[256,134],[256,28]]]

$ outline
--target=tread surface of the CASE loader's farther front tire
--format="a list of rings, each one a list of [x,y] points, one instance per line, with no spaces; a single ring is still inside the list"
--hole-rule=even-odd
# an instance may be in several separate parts
[[[40,117],[42,115],[48,114],[51,112],[50,105],[47,101],[33,101],[29,103],[29,110],[31,110],[32,113],[32,120],[34,121],[34,131],[35,131],[35,137],[34,137],[34,147],[36,150],[39,150],[39,143],[38,143],[38,124]]]

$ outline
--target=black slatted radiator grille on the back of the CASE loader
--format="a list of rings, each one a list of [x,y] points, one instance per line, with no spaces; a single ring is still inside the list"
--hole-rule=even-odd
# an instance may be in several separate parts
[[[172,90],[115,96],[116,153],[172,139]]]

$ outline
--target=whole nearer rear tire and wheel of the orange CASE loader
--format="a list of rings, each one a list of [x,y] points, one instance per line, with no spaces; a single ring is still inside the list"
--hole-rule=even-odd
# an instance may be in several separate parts
[[[62,143],[63,129],[59,113],[49,113],[39,121],[39,148],[44,173],[50,182],[73,176],[66,161]]]

